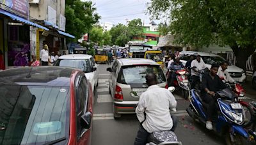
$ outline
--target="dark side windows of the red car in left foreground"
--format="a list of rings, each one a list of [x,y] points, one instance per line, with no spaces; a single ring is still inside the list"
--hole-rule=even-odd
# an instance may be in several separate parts
[[[86,112],[86,102],[87,102],[87,85],[84,85],[84,76],[81,79],[77,78],[79,81],[76,89],[76,129],[77,129],[77,139],[81,137],[81,133],[84,128],[81,127],[81,116]]]

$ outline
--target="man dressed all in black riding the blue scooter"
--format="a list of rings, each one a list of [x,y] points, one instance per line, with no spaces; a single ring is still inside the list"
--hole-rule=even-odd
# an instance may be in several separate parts
[[[216,75],[218,69],[218,64],[212,64],[210,72],[204,74],[202,78],[202,99],[204,100],[204,102],[209,104],[207,108],[206,121],[206,128],[209,130],[212,130],[212,116],[214,114],[214,111],[216,111],[215,102],[217,98],[215,96],[215,92],[227,88],[225,83],[221,81],[220,77]]]

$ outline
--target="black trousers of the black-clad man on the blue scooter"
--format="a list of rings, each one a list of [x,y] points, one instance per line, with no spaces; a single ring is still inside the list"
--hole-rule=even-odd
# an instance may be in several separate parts
[[[206,102],[208,104],[207,107],[207,121],[212,121],[212,116],[214,114],[214,112],[216,111],[216,100],[217,97],[211,96],[208,93],[202,93],[203,95],[203,100],[204,102]]]

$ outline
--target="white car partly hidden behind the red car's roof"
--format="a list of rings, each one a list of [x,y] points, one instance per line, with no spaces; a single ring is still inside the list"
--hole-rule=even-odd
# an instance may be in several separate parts
[[[86,78],[92,83],[93,92],[99,81],[98,65],[95,63],[92,55],[70,54],[60,56],[53,66],[76,67],[81,69]]]

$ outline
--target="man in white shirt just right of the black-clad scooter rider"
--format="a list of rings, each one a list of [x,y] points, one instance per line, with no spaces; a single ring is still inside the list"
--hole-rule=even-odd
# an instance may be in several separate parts
[[[218,69],[217,75],[224,79],[228,83],[234,83],[235,80],[230,76],[230,74],[227,71],[228,63],[227,62],[221,62],[220,68]]]

